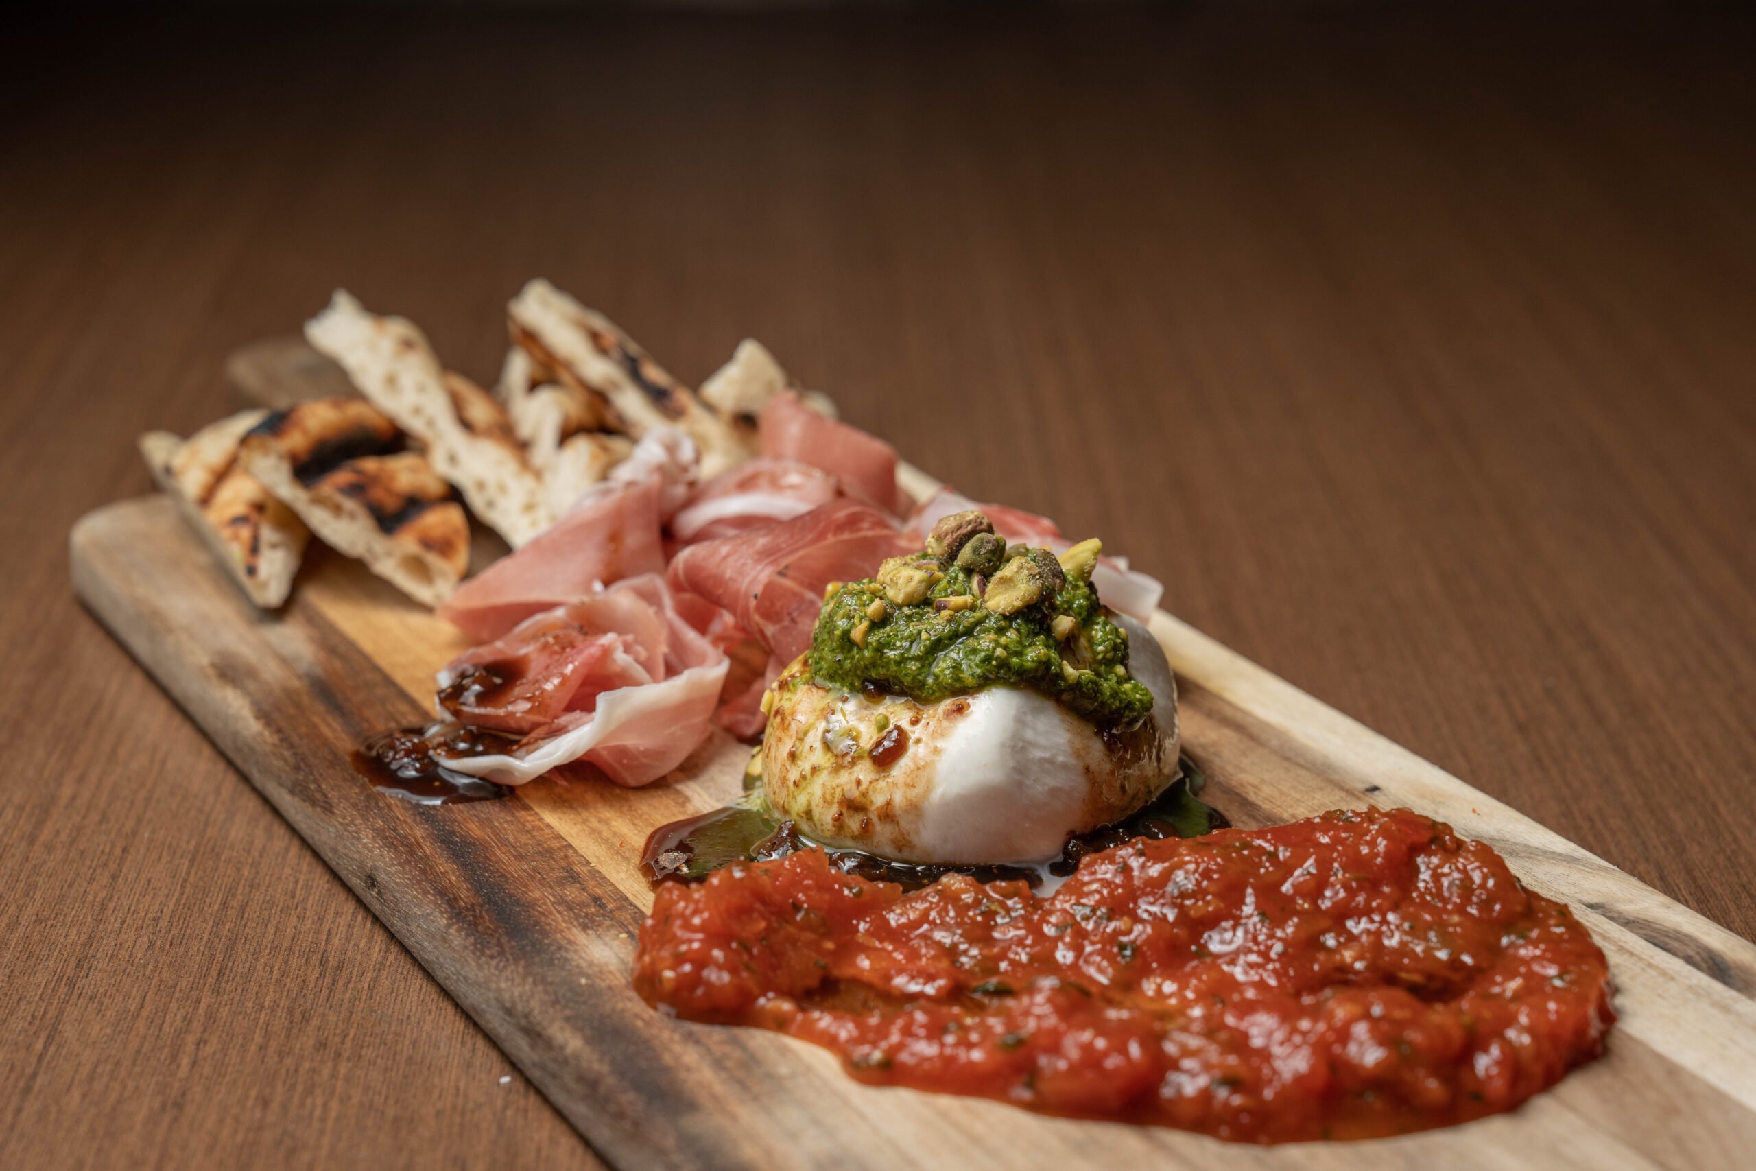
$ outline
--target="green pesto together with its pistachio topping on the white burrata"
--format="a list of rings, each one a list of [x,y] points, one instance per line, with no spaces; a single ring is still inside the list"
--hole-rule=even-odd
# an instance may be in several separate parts
[[[1090,585],[1101,546],[1082,541],[1061,558],[1011,546],[994,569],[996,544],[987,518],[961,513],[924,551],[836,588],[811,636],[811,674],[922,702],[1029,686],[1098,723],[1145,718],[1152,692],[1127,672],[1127,634]]]

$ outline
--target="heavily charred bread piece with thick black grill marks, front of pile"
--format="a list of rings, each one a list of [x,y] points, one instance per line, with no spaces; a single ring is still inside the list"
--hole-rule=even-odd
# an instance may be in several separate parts
[[[369,402],[318,399],[265,416],[239,460],[325,544],[439,606],[469,567],[469,518],[427,456],[402,444]]]

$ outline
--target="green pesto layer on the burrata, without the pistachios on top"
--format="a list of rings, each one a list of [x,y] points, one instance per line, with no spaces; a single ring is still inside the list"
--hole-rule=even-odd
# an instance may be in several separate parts
[[[920,606],[887,602],[885,616],[873,621],[867,607],[883,599],[876,581],[850,581],[831,595],[811,636],[815,678],[922,702],[1008,683],[1043,692],[1096,723],[1129,723],[1152,711],[1152,692],[1127,674],[1127,634],[1080,574],[1068,574],[1052,597],[1015,614],[989,613],[980,602],[945,611],[932,602],[973,593],[969,574],[927,553],[918,560],[945,574]],[[1057,614],[1078,623],[1066,643],[1050,632]],[[867,621],[866,644],[857,646],[852,634]],[[1064,657],[1078,669],[1071,678]]]

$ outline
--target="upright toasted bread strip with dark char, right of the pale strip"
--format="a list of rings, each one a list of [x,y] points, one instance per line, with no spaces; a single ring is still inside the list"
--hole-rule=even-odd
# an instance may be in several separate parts
[[[748,441],[671,377],[609,318],[548,281],[530,281],[506,307],[513,344],[530,355],[534,384],[555,381],[604,427],[639,439],[678,427],[701,449],[701,474],[715,476],[750,455]]]

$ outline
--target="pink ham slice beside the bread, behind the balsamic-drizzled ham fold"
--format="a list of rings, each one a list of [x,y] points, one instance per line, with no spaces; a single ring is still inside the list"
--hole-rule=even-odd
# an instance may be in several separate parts
[[[439,616],[486,643],[594,585],[664,572],[664,521],[694,488],[695,467],[688,435],[648,434],[565,516],[460,585]]]

